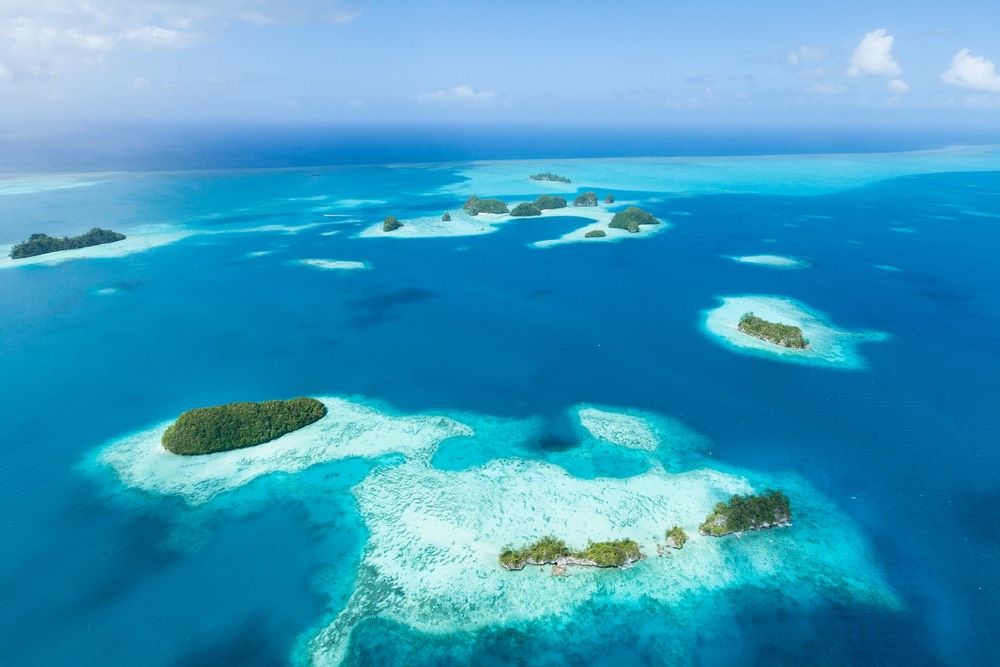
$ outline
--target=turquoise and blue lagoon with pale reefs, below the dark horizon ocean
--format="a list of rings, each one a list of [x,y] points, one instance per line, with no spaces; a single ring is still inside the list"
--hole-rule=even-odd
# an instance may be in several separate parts
[[[0,662],[996,661],[1000,148],[352,161],[0,175]],[[628,205],[662,224],[584,236]],[[272,443],[159,445],[301,395]],[[791,527],[698,534],[766,488]],[[647,558],[499,567],[547,534]]]

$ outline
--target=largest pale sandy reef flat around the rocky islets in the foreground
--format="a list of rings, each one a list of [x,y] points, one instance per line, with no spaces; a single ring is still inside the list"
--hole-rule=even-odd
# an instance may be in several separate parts
[[[797,481],[781,482],[793,499],[794,527],[743,539],[698,534],[716,502],[758,488],[719,470],[670,474],[657,467],[628,479],[584,480],[553,465],[509,459],[463,472],[421,461],[376,470],[355,488],[370,537],[354,593],[302,647],[302,657],[339,664],[364,618],[429,633],[543,618],[558,626],[595,597],[646,599],[672,609],[697,605],[699,594],[749,586],[781,590],[803,604],[841,597],[898,605],[850,520]],[[670,557],[657,557],[657,544],[674,525],[690,540]],[[549,568],[499,566],[505,545],[548,534],[576,548],[631,538],[648,558],[628,570],[570,568],[564,577]]]

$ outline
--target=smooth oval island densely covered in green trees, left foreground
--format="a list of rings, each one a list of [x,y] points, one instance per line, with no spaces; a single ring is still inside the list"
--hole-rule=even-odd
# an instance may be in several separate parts
[[[325,405],[304,397],[196,408],[167,427],[161,443],[168,452],[185,456],[227,452],[269,442],[324,415]]]

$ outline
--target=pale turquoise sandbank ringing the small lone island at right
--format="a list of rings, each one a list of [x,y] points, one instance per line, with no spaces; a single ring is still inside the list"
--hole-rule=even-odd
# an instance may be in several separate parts
[[[719,300],[721,305],[702,313],[703,328],[713,340],[734,352],[789,363],[861,369],[865,367],[865,360],[857,350],[858,345],[888,339],[887,334],[877,331],[838,329],[829,324],[822,313],[784,297],[747,295],[721,297]],[[802,334],[809,340],[809,347],[804,350],[786,348],[743,333],[737,325],[748,312],[769,322],[801,328]]]

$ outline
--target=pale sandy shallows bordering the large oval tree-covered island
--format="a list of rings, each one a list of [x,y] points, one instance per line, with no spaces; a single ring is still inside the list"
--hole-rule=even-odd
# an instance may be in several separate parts
[[[472,434],[468,426],[444,417],[396,417],[340,398],[320,400],[327,407],[325,417],[256,447],[205,456],[171,454],[160,444],[171,423],[164,422],[112,442],[96,462],[113,469],[125,486],[196,505],[262,475],[392,452],[429,456],[445,438]]]

